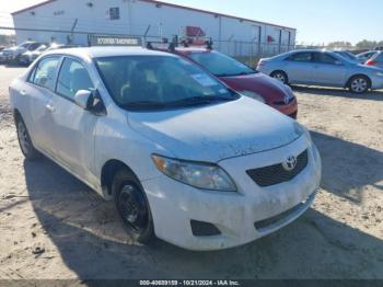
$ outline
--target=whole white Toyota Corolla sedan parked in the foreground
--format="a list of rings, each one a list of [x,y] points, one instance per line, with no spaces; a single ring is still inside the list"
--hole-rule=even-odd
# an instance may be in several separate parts
[[[55,50],[10,87],[21,150],[113,199],[129,234],[245,244],[313,203],[309,131],[192,62],[140,47]]]

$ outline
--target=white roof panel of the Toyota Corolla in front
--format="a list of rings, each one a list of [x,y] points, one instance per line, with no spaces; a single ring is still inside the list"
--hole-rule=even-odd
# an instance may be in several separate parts
[[[65,49],[55,49],[45,55],[68,55],[78,58],[102,58],[116,56],[169,56],[176,57],[165,51],[150,50],[142,47],[121,47],[121,46],[103,46],[103,47],[74,47]]]

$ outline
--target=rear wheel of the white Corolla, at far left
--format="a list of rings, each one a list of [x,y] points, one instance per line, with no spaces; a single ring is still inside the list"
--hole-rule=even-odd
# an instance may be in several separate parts
[[[15,126],[19,146],[25,159],[30,161],[39,159],[42,154],[33,146],[30,133],[25,126],[23,118],[20,115],[15,117]]]

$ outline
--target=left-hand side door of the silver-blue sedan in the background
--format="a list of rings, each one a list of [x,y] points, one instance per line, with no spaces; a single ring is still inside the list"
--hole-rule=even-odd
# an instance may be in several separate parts
[[[285,70],[289,77],[290,83],[310,83],[312,80],[312,53],[298,51],[292,54],[286,60]]]

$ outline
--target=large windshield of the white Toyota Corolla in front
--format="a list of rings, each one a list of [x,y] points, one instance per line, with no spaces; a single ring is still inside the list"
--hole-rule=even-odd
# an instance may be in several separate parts
[[[202,69],[178,57],[96,58],[114,101],[127,110],[163,110],[239,97]]]

